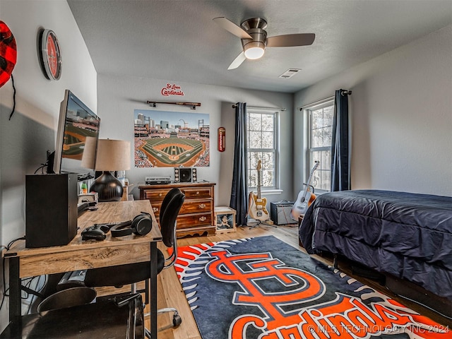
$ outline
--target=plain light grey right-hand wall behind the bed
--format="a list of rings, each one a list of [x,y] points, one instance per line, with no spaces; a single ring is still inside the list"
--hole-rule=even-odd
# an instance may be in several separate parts
[[[352,90],[352,189],[452,196],[452,25],[300,90],[295,107],[339,88]]]

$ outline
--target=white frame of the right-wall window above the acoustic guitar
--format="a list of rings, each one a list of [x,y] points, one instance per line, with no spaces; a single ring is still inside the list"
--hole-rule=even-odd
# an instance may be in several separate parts
[[[326,107],[333,107],[334,109],[334,97],[327,97],[326,99],[320,100],[319,102],[316,102],[311,105],[307,105],[306,107],[303,107],[303,110],[305,112],[305,117],[307,118],[307,138],[306,141],[306,154],[305,154],[305,168],[304,168],[304,182],[307,182],[309,179],[309,174],[311,173],[311,169],[314,167],[314,162],[311,160],[311,153],[313,152],[324,152],[324,151],[332,151],[332,146],[321,146],[321,147],[312,147],[312,113],[316,111],[317,109],[324,109]],[[331,120],[331,125],[333,125],[333,119]],[[321,167],[321,166],[320,166]],[[326,169],[324,169],[326,170]],[[331,168],[328,170],[330,172],[331,177]],[[312,184],[312,183],[311,183]],[[304,187],[303,187],[304,189]],[[331,191],[331,189],[319,189],[318,187],[315,188],[316,194],[322,194]]]

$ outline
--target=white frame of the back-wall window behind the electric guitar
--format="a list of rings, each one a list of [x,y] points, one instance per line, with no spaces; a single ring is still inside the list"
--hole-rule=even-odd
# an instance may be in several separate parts
[[[272,115],[273,116],[273,148],[249,148],[249,114],[261,114],[261,115]],[[261,186],[261,194],[270,194],[270,193],[276,193],[278,191],[280,191],[280,178],[279,178],[279,174],[280,174],[280,149],[279,149],[279,145],[280,145],[280,130],[279,130],[279,126],[280,126],[280,114],[278,109],[259,109],[259,108],[246,108],[246,164],[247,167],[250,167],[251,164],[251,160],[249,158],[249,153],[251,152],[268,152],[268,153],[273,153],[273,159],[274,159],[274,163],[273,163],[273,170],[274,170],[274,181],[273,184],[274,186]],[[262,129],[260,130],[262,131]],[[270,151],[269,151],[270,150]],[[250,177],[250,172],[252,169],[255,168],[247,168],[248,172],[247,172],[247,182],[248,182],[248,191],[254,191],[257,189],[257,186],[251,186],[251,184],[249,183],[249,177]],[[262,183],[262,180],[261,180]]]

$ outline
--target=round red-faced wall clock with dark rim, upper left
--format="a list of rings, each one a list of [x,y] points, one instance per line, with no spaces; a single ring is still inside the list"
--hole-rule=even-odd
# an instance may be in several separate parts
[[[57,35],[53,30],[40,32],[40,61],[44,76],[49,80],[58,80],[61,76],[61,51]]]

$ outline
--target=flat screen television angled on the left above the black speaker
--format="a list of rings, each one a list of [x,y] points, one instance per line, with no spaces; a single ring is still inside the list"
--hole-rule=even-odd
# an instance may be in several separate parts
[[[60,105],[54,172],[77,173],[79,180],[94,178],[99,129],[100,118],[66,90]],[[90,157],[90,161],[86,161],[86,157]]]

